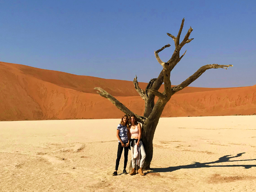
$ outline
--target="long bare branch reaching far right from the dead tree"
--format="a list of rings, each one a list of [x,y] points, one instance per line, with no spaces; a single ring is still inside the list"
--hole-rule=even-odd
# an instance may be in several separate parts
[[[207,69],[217,69],[217,68],[225,68],[227,69],[228,67],[233,67],[233,65],[218,65],[218,64],[212,64],[212,65],[204,65],[203,67],[199,68],[196,73],[188,77],[185,81],[183,81],[181,84],[172,87],[172,95],[175,94],[176,92],[184,89],[187,87],[189,84],[191,84],[193,81],[195,81],[198,77],[200,77]]]

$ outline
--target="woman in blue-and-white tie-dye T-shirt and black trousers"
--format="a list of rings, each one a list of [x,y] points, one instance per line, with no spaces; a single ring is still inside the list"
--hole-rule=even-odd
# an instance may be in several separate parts
[[[128,161],[128,151],[129,151],[129,145],[130,145],[130,135],[129,135],[129,121],[128,116],[124,115],[121,119],[121,123],[117,125],[116,130],[116,137],[118,139],[118,149],[117,149],[117,158],[116,158],[116,170],[113,173],[113,175],[117,175],[117,170],[119,166],[119,162],[121,159],[121,155],[124,149],[124,174],[127,174],[126,172],[126,165]]]

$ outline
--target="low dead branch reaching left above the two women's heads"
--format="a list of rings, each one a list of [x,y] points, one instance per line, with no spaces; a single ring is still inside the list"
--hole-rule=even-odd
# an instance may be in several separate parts
[[[106,99],[108,99],[109,101],[111,101],[111,103],[113,103],[118,109],[120,109],[121,111],[123,111],[125,114],[127,114],[128,116],[131,115],[135,115],[138,122],[144,124],[144,122],[147,120],[146,117],[144,116],[140,116],[140,115],[136,115],[134,114],[130,109],[128,109],[127,107],[124,106],[123,103],[121,103],[120,101],[118,101],[115,97],[113,97],[112,95],[110,95],[108,92],[106,92],[104,89],[101,89],[100,87],[95,87],[94,89],[99,90],[100,92],[97,91],[97,93],[101,96],[104,97]]]

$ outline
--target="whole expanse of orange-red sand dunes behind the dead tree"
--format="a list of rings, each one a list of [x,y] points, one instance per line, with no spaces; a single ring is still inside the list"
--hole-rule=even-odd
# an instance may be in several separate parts
[[[139,84],[141,88],[147,85]],[[0,62],[0,120],[120,118],[123,112],[100,97],[94,87],[105,89],[135,113],[143,114],[144,101],[135,91],[132,81],[77,76]],[[172,96],[162,117],[254,113],[255,85],[186,87]]]

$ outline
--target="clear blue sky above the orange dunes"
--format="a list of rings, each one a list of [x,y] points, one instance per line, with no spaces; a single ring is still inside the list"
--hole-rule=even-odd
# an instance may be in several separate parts
[[[256,84],[256,1],[54,1],[0,0],[0,61],[76,75],[148,82],[170,59],[182,18],[194,30],[186,55],[171,73],[180,84],[206,64],[190,86]]]

